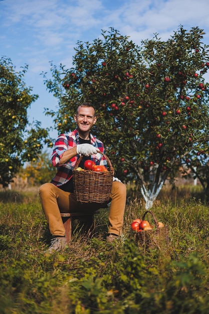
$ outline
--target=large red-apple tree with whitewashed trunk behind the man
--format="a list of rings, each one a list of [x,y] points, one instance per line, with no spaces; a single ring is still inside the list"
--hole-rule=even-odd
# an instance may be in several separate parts
[[[92,43],[77,43],[71,69],[52,64],[52,78],[44,74],[59,99],[59,110],[46,112],[57,129],[73,129],[76,107],[91,101],[98,116],[93,133],[104,141],[116,176],[139,184],[147,209],[180,166],[198,171],[208,162],[203,35],[198,27],[179,27],[167,41],[156,34],[138,46],[111,28]]]

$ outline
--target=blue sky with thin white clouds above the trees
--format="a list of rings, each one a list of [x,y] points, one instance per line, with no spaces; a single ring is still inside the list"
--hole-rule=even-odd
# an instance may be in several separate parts
[[[55,109],[57,100],[46,90],[41,76],[55,65],[72,65],[78,41],[92,42],[110,27],[136,43],[158,33],[167,40],[178,26],[198,26],[209,44],[207,0],[4,0],[0,1],[0,55],[12,59],[16,69],[25,64],[27,86],[39,99],[29,118],[43,127],[53,126],[44,108]],[[51,133],[56,137],[57,131]]]

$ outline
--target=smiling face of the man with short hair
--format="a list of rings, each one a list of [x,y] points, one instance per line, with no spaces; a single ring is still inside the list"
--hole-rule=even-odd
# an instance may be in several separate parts
[[[93,124],[96,123],[97,117],[94,116],[94,108],[92,107],[79,107],[78,114],[74,116],[80,132],[89,132]]]

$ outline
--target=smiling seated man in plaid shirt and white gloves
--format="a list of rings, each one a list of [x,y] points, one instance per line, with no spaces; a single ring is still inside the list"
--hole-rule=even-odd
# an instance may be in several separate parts
[[[52,164],[57,167],[57,174],[51,183],[40,187],[42,208],[49,224],[51,234],[55,237],[48,252],[52,253],[66,246],[65,228],[60,213],[86,212],[93,214],[102,204],[80,203],[73,193],[72,170],[76,161],[83,155],[81,163],[91,159],[96,165],[107,165],[104,156],[104,144],[94,137],[90,130],[96,123],[97,117],[92,104],[85,102],[76,111],[74,119],[77,128],[69,133],[58,136],[52,153]],[[126,204],[126,186],[117,178],[113,178],[110,195],[109,230],[107,241],[112,242],[121,236],[123,216]]]

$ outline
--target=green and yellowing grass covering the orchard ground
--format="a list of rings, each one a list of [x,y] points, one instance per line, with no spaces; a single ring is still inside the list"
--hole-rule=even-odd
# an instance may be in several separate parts
[[[69,248],[51,255],[38,190],[1,192],[0,200],[0,313],[208,313],[208,207],[199,186],[162,189],[152,211],[170,242],[152,250],[130,230],[145,212],[135,191],[128,190],[122,239],[105,241],[101,210],[93,238],[75,222]]]

